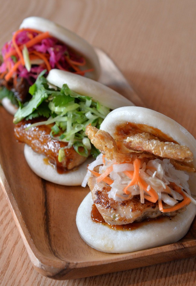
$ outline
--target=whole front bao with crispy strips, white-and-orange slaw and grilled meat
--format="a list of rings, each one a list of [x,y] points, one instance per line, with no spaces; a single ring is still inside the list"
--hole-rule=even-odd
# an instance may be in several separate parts
[[[136,106],[110,112],[86,133],[100,155],[89,164],[76,224],[103,252],[126,253],[177,242],[196,214],[196,140],[180,124]],[[96,210],[96,212],[95,212]]]

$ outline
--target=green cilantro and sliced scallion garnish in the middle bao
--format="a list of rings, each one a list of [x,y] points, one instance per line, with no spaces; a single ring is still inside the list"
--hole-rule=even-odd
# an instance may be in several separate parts
[[[44,73],[45,71],[40,73],[29,89],[31,100],[24,105],[19,103],[20,107],[14,115],[13,122],[16,124],[23,119],[45,117],[45,121],[30,124],[27,128],[52,124],[51,138],[67,142],[68,145],[65,148],[73,146],[82,156],[88,157],[91,153],[96,157],[99,152],[91,145],[85,129],[89,124],[99,128],[110,109],[98,101],[93,101],[89,96],[73,92],[67,84],[64,84],[61,89],[50,87],[43,76]],[[80,146],[84,147],[83,152],[79,152]],[[62,161],[64,154],[64,150],[60,149],[59,162]]]

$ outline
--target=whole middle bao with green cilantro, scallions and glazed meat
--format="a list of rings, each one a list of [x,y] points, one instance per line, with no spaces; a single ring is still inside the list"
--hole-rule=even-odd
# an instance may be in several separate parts
[[[89,160],[99,154],[86,126],[99,128],[111,110],[133,103],[99,82],[58,69],[47,78],[40,74],[29,91],[32,99],[14,115],[15,137],[28,145],[27,163],[50,182],[81,185]]]

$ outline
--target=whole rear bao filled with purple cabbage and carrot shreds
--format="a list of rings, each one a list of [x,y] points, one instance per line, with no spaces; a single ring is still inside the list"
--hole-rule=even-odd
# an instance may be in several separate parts
[[[98,80],[100,63],[86,40],[41,17],[23,20],[19,30],[2,48],[0,100],[14,115],[19,102],[30,99],[28,89],[45,70],[62,69]]]

